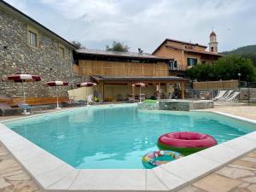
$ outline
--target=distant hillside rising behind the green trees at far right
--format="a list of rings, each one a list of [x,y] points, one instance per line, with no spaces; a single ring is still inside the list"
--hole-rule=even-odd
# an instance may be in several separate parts
[[[253,61],[253,65],[256,67],[256,44],[247,45],[238,49],[230,51],[224,51],[220,53],[222,55],[241,55]]]

